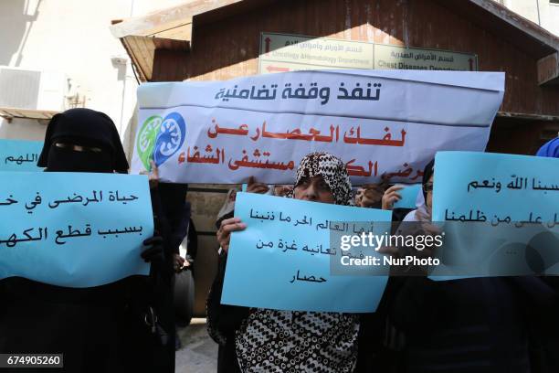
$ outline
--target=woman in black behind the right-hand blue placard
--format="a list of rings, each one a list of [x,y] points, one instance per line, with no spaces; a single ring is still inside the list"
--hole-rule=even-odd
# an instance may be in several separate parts
[[[434,166],[431,161],[424,171],[425,204],[411,211],[403,224],[429,225]],[[403,280],[391,294],[389,316],[406,336],[404,372],[531,371],[527,319],[512,282],[499,277]]]

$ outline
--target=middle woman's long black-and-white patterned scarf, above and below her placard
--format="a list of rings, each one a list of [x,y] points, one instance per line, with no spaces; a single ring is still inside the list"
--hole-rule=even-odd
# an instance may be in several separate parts
[[[322,176],[337,205],[352,204],[352,187],[341,159],[327,153],[305,156],[295,187],[303,177],[313,176]],[[247,373],[352,372],[358,334],[356,314],[253,309],[236,333],[237,359]]]

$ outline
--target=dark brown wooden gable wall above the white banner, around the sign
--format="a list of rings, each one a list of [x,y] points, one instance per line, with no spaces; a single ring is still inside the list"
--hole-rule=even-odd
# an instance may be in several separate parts
[[[191,52],[156,53],[153,80],[227,80],[257,74],[260,32],[338,37],[478,54],[480,70],[507,73],[502,111],[559,115],[557,87],[537,84],[538,58],[522,50],[522,43],[512,44],[441,3],[283,0],[195,26]]]

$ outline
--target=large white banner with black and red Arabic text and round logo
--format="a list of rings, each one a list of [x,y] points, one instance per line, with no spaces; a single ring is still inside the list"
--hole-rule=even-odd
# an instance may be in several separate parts
[[[347,164],[354,185],[413,183],[440,150],[483,151],[504,73],[322,70],[138,89],[132,173],[163,181],[293,182],[304,155]]]

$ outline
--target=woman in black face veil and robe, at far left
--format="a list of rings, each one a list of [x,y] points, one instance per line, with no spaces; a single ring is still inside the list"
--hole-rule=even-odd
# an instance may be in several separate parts
[[[52,118],[37,165],[47,172],[128,170],[114,123],[89,109],[71,109]],[[142,258],[152,261],[152,268],[161,265],[161,239],[145,240],[144,245],[149,248]],[[149,365],[152,336],[132,313],[136,304],[143,304],[144,276],[84,289],[9,278],[5,288],[1,352],[63,354],[61,372],[154,371]]]

